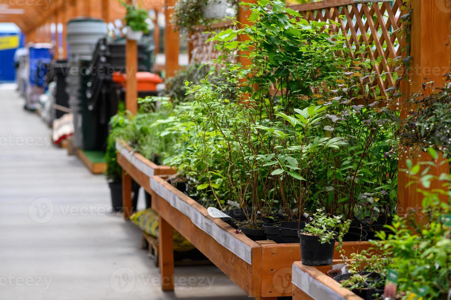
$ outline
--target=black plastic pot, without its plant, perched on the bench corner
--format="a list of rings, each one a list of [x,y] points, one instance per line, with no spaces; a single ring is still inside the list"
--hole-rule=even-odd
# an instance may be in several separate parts
[[[321,244],[318,237],[298,231],[301,244],[301,261],[307,266],[328,266],[332,264],[335,239]]]

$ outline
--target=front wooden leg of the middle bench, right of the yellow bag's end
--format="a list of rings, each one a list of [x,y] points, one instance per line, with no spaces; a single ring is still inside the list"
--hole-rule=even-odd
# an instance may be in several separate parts
[[[174,291],[174,229],[158,216],[158,265],[161,273],[161,289]]]

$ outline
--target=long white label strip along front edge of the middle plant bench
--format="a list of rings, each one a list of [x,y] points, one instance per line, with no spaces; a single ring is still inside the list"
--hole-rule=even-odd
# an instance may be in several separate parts
[[[191,222],[210,235],[219,244],[243,259],[246,263],[252,264],[252,248],[249,245],[246,245],[229,232],[221,229],[215,222],[204,217],[201,212],[184,202],[152,177],[150,178],[150,188],[161,198],[165,199],[172,207],[189,217]]]

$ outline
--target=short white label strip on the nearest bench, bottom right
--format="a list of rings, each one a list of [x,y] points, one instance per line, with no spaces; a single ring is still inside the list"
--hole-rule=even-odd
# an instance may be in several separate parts
[[[291,283],[316,300],[345,300],[345,297],[337,294],[330,287],[311,277],[296,265],[293,265],[292,268]]]

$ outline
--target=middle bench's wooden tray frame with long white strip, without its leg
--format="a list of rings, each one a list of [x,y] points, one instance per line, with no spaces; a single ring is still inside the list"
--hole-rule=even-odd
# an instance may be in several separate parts
[[[151,178],[151,191],[152,208],[170,226],[160,236],[170,234],[172,228],[177,230],[251,297],[292,295],[292,264],[301,258],[298,243],[255,242],[242,233],[235,234],[233,227],[211,217],[206,208],[159,176]],[[164,243],[159,246],[160,253],[172,252]],[[347,254],[368,247],[368,242],[343,243]],[[340,254],[335,252],[334,258],[340,259]],[[173,269],[162,274],[170,277],[170,272]]]

